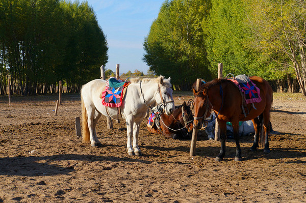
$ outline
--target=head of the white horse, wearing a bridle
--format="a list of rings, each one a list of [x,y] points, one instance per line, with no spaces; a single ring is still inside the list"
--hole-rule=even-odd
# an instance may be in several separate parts
[[[163,105],[163,109],[167,115],[174,111],[174,101],[172,97],[171,78],[165,79],[164,76],[158,77],[158,93],[155,96],[155,101]]]

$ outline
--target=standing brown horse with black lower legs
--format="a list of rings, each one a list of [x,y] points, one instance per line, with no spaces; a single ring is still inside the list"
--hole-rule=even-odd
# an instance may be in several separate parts
[[[225,139],[226,139],[226,122],[232,122],[234,130],[234,138],[236,141],[235,161],[241,161],[241,148],[239,144],[239,121],[252,120],[254,124],[254,141],[251,151],[256,151],[259,147],[260,128],[264,130],[265,135],[264,153],[269,153],[269,123],[270,108],[273,101],[272,88],[269,83],[261,77],[250,77],[251,81],[260,89],[261,102],[247,104],[244,107],[248,112],[246,117],[242,111],[242,96],[237,86],[227,78],[214,79],[208,83],[202,84],[199,91],[193,88],[194,99],[194,126],[200,128],[202,122],[214,110],[217,115],[217,121],[220,126],[221,150],[216,161],[222,161],[225,155]],[[194,84],[195,85],[195,84]],[[194,86],[193,85],[193,86]],[[254,108],[255,107],[255,108]],[[263,121],[263,125],[262,125]],[[261,140],[263,143],[263,139]]]

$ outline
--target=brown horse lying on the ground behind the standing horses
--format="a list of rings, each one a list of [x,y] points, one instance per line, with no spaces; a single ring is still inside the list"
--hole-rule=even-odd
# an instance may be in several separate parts
[[[161,113],[158,115],[159,121],[155,122],[152,127],[147,129],[151,133],[163,133],[168,138],[173,139],[189,139],[193,130],[193,115],[190,106],[183,103],[183,105],[175,106],[172,114],[167,115]]]

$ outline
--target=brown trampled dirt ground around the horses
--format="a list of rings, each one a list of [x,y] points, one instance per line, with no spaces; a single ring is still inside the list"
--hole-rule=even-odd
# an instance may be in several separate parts
[[[174,92],[176,104],[193,98]],[[173,140],[140,129],[143,156],[129,156],[125,122],[97,127],[101,148],[82,143],[74,118],[78,94],[0,97],[0,202],[306,202],[306,98],[274,94],[271,153],[250,152],[252,136],[234,140],[222,162],[220,142],[199,131],[196,155],[190,140]]]

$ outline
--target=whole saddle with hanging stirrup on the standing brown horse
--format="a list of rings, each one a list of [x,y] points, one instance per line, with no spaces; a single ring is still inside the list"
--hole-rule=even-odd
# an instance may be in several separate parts
[[[242,96],[241,108],[242,108],[244,117],[246,117],[246,112],[244,110],[246,107],[246,104],[251,103],[252,107],[256,109],[254,106],[254,103],[261,102],[262,99],[260,97],[260,89],[246,75],[237,75],[236,77],[234,77],[234,75],[231,73],[227,74],[227,76],[228,75],[233,76],[232,78],[228,80],[232,81],[240,91],[240,94]]]

